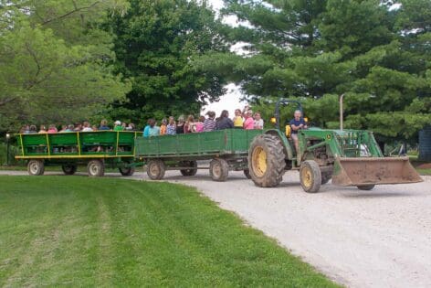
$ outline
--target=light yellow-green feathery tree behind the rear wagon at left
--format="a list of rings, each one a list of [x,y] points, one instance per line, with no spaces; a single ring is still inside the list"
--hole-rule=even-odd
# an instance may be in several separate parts
[[[0,1],[0,129],[89,119],[130,90],[101,19],[121,1]]]

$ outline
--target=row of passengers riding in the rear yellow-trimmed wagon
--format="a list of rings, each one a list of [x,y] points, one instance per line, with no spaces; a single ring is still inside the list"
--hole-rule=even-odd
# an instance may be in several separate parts
[[[114,122],[112,128],[108,125],[107,120],[100,121],[100,125],[91,125],[88,121],[83,123],[75,123],[68,125],[61,125],[61,129],[58,130],[57,125],[50,124],[48,127],[40,125],[37,130],[36,125],[24,125],[19,133],[23,134],[36,134],[36,133],[68,133],[68,132],[93,132],[93,131],[136,131],[133,123],[121,123],[117,120]]]

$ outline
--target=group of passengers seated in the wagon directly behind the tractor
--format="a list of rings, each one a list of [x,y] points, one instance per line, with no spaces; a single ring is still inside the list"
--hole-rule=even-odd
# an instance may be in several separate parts
[[[205,117],[206,116],[206,117]],[[163,119],[160,126],[154,119],[148,120],[147,125],[143,129],[143,137],[158,136],[164,134],[180,134],[180,133],[201,133],[224,129],[263,129],[264,122],[259,112],[253,113],[246,106],[242,111],[237,109],[235,116],[229,118],[229,112],[222,111],[220,116],[216,118],[216,112],[206,112],[205,116],[199,116],[197,119],[194,115],[178,117],[175,122],[173,116],[168,119]]]

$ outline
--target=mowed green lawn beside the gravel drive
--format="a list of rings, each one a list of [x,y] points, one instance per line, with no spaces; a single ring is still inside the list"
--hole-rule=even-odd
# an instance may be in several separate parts
[[[0,286],[336,286],[191,187],[85,176],[0,183]]]

